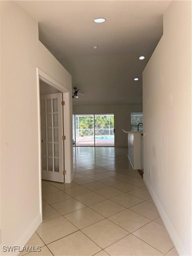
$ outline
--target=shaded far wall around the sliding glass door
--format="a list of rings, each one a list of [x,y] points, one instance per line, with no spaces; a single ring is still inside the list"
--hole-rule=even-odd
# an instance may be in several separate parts
[[[77,99],[76,99],[77,101]],[[142,105],[98,105],[73,106],[73,114],[113,114],[115,128],[115,146],[127,147],[127,134],[122,131],[131,130],[131,112],[142,112]]]

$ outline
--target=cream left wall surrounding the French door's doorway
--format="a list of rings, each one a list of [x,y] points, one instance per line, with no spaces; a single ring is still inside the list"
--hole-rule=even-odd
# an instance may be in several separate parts
[[[37,21],[1,1],[2,245],[23,246],[41,221],[37,67],[71,93],[71,76],[39,42]]]

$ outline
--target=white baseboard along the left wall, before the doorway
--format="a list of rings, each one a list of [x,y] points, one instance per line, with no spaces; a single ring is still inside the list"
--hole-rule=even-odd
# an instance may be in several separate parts
[[[15,243],[15,246],[20,246],[22,248],[27,241],[31,238],[35,230],[38,228],[38,226],[41,224],[41,214],[39,213],[38,216],[33,220],[31,225],[28,227],[28,229],[22,234],[22,236],[17,240]],[[9,253],[10,254],[10,253]],[[11,255],[17,256],[19,254],[18,251],[12,252]],[[6,253],[4,255],[7,255]]]

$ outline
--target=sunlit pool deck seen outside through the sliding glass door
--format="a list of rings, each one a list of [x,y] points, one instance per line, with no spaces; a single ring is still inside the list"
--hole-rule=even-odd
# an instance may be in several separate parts
[[[114,146],[114,137],[111,138],[112,139],[97,139],[97,137],[95,137],[95,146],[112,147]],[[94,146],[94,138],[92,136],[77,137],[76,146]]]

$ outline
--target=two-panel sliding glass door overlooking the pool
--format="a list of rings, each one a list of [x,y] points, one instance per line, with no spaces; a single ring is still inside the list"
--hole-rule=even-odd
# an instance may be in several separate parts
[[[74,146],[114,146],[114,114],[73,115]]]

